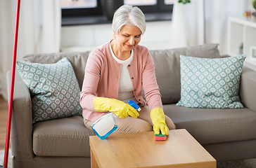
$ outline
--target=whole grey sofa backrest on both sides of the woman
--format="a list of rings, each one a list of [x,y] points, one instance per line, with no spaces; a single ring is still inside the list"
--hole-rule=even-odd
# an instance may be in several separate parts
[[[204,44],[188,48],[150,51],[155,63],[155,76],[162,94],[162,104],[177,103],[181,97],[179,55],[218,58],[220,55],[217,46],[218,44]],[[87,51],[31,54],[24,56],[23,61],[51,64],[58,62],[63,57],[67,57],[73,66],[81,89],[89,53]]]

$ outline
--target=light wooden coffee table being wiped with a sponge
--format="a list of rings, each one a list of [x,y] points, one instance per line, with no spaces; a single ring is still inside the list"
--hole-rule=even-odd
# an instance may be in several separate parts
[[[91,167],[216,168],[216,160],[186,130],[170,130],[166,141],[154,132],[91,136]]]

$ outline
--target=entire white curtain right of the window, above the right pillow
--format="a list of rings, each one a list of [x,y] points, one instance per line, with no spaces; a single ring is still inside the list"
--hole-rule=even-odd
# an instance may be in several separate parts
[[[219,43],[222,55],[227,53],[229,17],[243,17],[243,12],[252,6],[251,0],[191,0],[191,3],[179,3],[178,9],[175,3],[172,48]]]

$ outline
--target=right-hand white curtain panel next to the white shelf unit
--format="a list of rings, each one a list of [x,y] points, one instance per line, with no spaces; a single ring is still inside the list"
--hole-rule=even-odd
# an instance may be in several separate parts
[[[206,43],[219,43],[219,52],[227,54],[229,17],[243,17],[252,6],[251,0],[205,0]]]

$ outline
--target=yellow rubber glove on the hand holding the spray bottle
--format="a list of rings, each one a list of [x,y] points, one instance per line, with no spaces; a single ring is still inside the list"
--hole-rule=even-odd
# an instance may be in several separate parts
[[[112,113],[115,113],[115,115],[120,118],[127,118],[128,116],[137,118],[137,116],[139,116],[138,111],[136,111],[129,104],[125,104],[124,102],[117,99],[109,99],[105,97],[94,98],[94,109],[97,112],[110,111]]]

